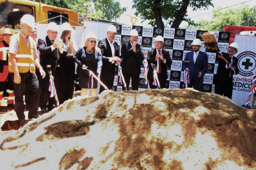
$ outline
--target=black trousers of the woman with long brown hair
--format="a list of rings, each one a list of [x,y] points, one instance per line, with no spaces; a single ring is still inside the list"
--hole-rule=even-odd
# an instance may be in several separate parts
[[[64,101],[66,101],[68,99],[72,99],[74,94],[75,61],[73,57],[63,57],[63,65],[64,79],[62,81],[62,86],[66,86],[64,92]]]

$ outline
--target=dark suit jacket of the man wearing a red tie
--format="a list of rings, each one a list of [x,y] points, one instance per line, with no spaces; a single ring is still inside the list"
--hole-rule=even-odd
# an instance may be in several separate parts
[[[163,78],[167,79],[168,78],[168,74],[167,74],[167,69],[166,69],[166,65],[171,66],[172,65],[172,59],[170,57],[169,51],[162,49],[162,54],[163,57],[166,60],[166,63],[161,62],[161,69],[162,69],[162,75]],[[153,79],[153,68],[151,66],[151,63],[153,63],[155,65],[155,68],[157,67],[157,61],[155,60],[155,56],[156,56],[156,49],[154,50],[150,50],[147,53],[147,62],[149,63],[149,73],[147,74],[147,78],[149,79]]]

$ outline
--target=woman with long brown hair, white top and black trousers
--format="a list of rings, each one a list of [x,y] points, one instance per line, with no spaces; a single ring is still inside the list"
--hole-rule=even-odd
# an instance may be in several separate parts
[[[64,100],[73,98],[74,93],[74,78],[75,78],[75,61],[74,55],[77,50],[75,42],[71,38],[72,27],[68,23],[62,24],[61,40],[63,42],[63,48],[67,50],[67,55],[62,57],[62,63],[64,66],[64,77],[62,88],[64,93]]]

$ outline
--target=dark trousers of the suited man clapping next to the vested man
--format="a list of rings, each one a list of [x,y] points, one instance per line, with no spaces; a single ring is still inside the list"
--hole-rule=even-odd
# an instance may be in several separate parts
[[[45,72],[45,77],[42,78],[40,71],[36,70],[36,75],[38,77],[38,81],[41,86],[41,95],[40,95],[40,102],[39,102],[39,107],[42,109],[46,109],[46,105],[52,106],[53,104],[56,104],[55,98],[50,98],[50,91],[48,91],[49,84],[50,84],[50,76],[48,74],[48,71],[46,69],[46,66],[43,66],[43,70]],[[27,88],[26,88],[27,89]],[[25,101],[27,101],[26,95],[28,91],[25,91]],[[27,102],[26,102],[27,103]]]

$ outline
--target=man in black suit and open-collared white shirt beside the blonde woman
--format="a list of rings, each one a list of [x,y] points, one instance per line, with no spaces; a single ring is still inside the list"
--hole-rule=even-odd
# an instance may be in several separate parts
[[[106,87],[111,90],[114,83],[115,77],[115,61],[121,61],[119,58],[118,45],[114,41],[116,33],[116,28],[110,25],[107,28],[107,37],[102,39],[98,43],[98,47],[102,51],[102,71],[101,71],[101,81]],[[104,91],[104,87],[100,87],[100,93]]]

